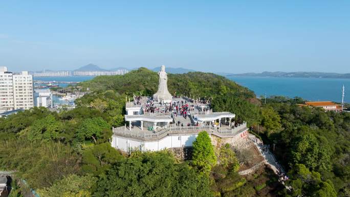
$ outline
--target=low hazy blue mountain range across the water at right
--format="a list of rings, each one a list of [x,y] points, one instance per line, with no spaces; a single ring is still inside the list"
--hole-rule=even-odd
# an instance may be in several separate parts
[[[350,73],[323,73],[323,72],[262,72],[262,73],[243,73],[243,74],[229,74],[222,75],[243,76],[243,77],[300,77],[300,78],[350,78]]]

